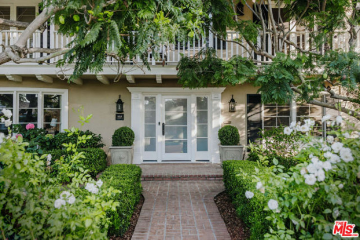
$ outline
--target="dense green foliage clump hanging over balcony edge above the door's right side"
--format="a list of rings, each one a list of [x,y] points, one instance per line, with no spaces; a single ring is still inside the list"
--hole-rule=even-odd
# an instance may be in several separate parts
[[[256,73],[252,61],[239,55],[228,61],[217,57],[214,49],[203,49],[192,57],[182,57],[178,63],[178,83],[183,87],[205,88],[246,82]]]

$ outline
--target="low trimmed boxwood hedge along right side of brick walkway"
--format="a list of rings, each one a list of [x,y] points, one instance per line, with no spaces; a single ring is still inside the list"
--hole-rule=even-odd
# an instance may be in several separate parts
[[[250,239],[263,239],[263,235],[269,230],[270,222],[266,220],[271,212],[264,211],[268,199],[259,190],[256,190],[256,183],[252,182],[251,175],[259,168],[256,162],[251,161],[224,161],[223,181],[226,193],[231,198],[238,216],[250,229]],[[246,176],[239,175],[241,172]],[[252,199],[245,197],[245,192],[254,193]]]

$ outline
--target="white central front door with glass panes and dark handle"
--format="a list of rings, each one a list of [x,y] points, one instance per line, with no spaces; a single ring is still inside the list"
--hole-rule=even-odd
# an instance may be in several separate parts
[[[161,161],[191,161],[191,98],[162,96]]]

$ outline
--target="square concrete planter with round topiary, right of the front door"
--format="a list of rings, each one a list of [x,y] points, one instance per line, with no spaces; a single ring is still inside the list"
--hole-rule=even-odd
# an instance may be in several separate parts
[[[219,129],[218,136],[220,140],[220,161],[243,160],[243,148],[240,145],[240,135],[236,127],[226,125]]]

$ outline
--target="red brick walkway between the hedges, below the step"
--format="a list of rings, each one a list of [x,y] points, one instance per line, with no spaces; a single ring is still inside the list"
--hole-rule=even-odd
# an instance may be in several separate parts
[[[149,181],[142,187],[145,202],[132,240],[230,240],[214,202],[222,181]]]

